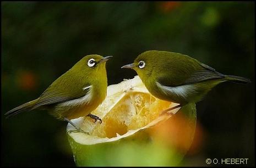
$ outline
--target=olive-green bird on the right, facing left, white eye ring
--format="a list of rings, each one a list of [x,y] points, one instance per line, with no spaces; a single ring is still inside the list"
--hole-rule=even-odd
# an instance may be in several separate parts
[[[166,51],[146,51],[122,68],[135,70],[153,96],[179,104],[166,111],[199,102],[221,82],[250,82],[244,77],[221,74],[188,55]]]

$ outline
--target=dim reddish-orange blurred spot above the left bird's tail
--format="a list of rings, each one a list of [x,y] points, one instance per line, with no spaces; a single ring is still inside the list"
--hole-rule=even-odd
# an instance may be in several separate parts
[[[22,71],[18,75],[18,86],[21,89],[33,90],[36,88],[36,76],[31,71]]]

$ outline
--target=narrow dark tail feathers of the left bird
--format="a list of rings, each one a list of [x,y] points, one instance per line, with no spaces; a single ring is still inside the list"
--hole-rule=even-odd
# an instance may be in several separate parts
[[[6,118],[9,118],[9,117],[17,115],[17,114],[19,114],[19,113],[21,113],[23,111],[30,111],[34,107],[34,105],[36,104],[37,100],[38,99],[35,99],[35,100],[32,100],[32,101],[30,101],[28,103],[21,104],[20,106],[12,109],[10,111],[8,111],[4,115],[6,115]]]

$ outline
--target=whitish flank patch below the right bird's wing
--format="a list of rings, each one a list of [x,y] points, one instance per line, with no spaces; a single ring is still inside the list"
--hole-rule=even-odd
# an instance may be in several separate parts
[[[161,89],[162,92],[165,94],[176,94],[177,96],[181,96],[183,98],[186,98],[189,96],[190,93],[195,92],[195,88],[193,85],[182,85],[182,86],[164,86],[161,85],[161,83],[156,82],[157,87]]]

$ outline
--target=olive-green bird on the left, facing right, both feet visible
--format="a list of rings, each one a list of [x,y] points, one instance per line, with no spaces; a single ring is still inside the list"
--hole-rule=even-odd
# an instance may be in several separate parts
[[[86,55],[71,69],[58,77],[39,98],[8,111],[7,117],[23,111],[47,109],[59,120],[68,121],[77,131],[84,132],[71,119],[90,116],[101,119],[91,111],[105,99],[107,93],[106,61],[112,56]]]

